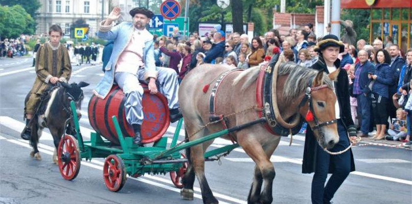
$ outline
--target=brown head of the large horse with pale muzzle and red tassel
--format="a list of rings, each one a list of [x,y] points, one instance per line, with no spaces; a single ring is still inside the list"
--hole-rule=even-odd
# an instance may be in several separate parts
[[[328,75],[334,81],[339,69]],[[305,120],[310,125],[318,143],[323,148],[332,148],[338,141],[337,120],[335,114],[336,95],[333,87],[326,84],[328,79],[324,78],[324,72],[320,71],[313,79],[311,87],[306,89],[307,109],[301,110]],[[330,82],[329,82],[330,84]]]

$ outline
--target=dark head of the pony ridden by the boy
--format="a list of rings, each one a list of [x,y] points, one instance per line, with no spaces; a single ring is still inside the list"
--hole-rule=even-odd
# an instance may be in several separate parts
[[[82,116],[80,111],[82,108],[82,100],[84,97],[83,90],[81,88],[86,87],[89,84],[86,82],[80,82],[79,84],[76,84],[76,83],[66,84],[64,82],[61,82],[61,85],[65,88],[65,93],[67,96],[68,103],[70,103],[71,100],[75,101],[76,113],[80,119],[80,117]]]

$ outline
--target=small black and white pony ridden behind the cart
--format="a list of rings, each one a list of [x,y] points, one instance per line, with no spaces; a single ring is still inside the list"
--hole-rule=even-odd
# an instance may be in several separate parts
[[[53,161],[57,164],[56,149],[59,146],[60,139],[65,130],[67,130],[69,134],[75,136],[73,132],[73,120],[69,119],[72,118],[70,101],[75,101],[76,113],[80,119],[80,110],[84,97],[81,88],[88,85],[89,84],[85,82],[80,82],[79,84],[72,83],[70,85],[60,82],[57,86],[51,88],[45,98],[41,101],[39,110],[35,113],[31,121],[30,128],[32,133],[30,145],[33,147],[33,150],[30,152],[30,157],[34,157],[36,160],[41,160],[37,144],[39,143],[44,127],[47,127],[53,136],[54,145],[56,147]]]

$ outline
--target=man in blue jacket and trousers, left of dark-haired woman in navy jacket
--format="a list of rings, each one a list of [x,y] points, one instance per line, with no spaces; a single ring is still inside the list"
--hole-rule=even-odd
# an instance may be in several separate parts
[[[359,63],[355,66],[355,79],[353,80],[353,95],[358,103],[359,137],[368,137],[371,131],[371,90],[369,89],[368,73],[374,73],[375,66],[368,60],[368,52],[361,49],[358,53]]]

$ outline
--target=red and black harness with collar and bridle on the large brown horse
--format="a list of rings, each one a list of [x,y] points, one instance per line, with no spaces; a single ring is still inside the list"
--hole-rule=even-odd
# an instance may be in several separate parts
[[[214,86],[212,88],[212,91],[210,93],[209,97],[209,123],[214,123],[217,121],[221,121],[223,127],[225,129],[228,129],[228,120],[227,117],[228,115],[216,115],[215,114],[215,101],[216,101],[216,95],[217,91],[219,90],[219,87],[221,83],[225,80],[225,78],[237,71],[243,71],[243,69],[231,69],[227,70],[219,75],[217,78],[216,82],[214,83]],[[300,122],[298,125],[293,126],[292,128],[287,128],[283,125],[281,125],[278,120],[276,119],[276,114],[274,111],[273,107],[273,100],[272,100],[272,84],[273,84],[273,74],[277,74],[277,68],[275,66],[268,66],[268,64],[263,64],[260,67],[260,72],[257,78],[256,82],[256,110],[258,111],[259,114],[259,119],[252,121],[255,123],[264,123],[264,127],[268,132],[270,132],[273,135],[281,135],[281,136],[287,136],[288,134],[291,135],[296,135],[299,130],[301,129],[302,126],[302,117],[299,115],[296,115],[295,117],[300,117]],[[312,80],[311,80],[312,81]],[[333,119],[330,121],[322,122],[319,123],[318,117],[314,113],[313,109],[313,102],[312,102],[312,97],[311,97],[311,92],[318,91],[323,88],[327,88],[327,85],[321,85],[317,87],[311,87],[311,83],[308,84],[308,87],[305,92],[305,97],[302,99],[301,103],[299,104],[299,108],[303,107],[307,102],[309,103],[309,110],[308,113],[305,117],[307,121],[313,120],[315,123],[315,126],[313,127],[314,130],[319,129],[320,131],[320,136],[324,137],[324,134],[321,130],[322,126],[330,125],[333,123],[337,122],[337,119]],[[276,87],[275,87],[276,88]],[[249,110],[249,109],[247,109]],[[233,114],[231,114],[233,115]],[[309,117],[311,116],[311,117]],[[308,120],[309,119],[309,120]],[[311,119],[311,120],[310,120]],[[207,125],[206,125],[207,126]],[[230,134],[232,142],[234,142],[234,136]]]

